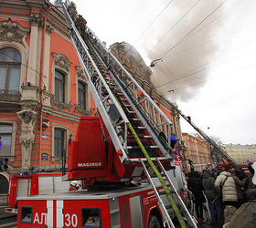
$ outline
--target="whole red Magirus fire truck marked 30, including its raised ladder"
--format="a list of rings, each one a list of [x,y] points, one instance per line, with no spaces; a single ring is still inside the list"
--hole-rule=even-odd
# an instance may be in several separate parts
[[[18,197],[17,227],[197,227],[176,191],[172,122],[90,28],[80,36],[62,6],[99,113],[81,117],[69,140],[62,180],[85,189]]]

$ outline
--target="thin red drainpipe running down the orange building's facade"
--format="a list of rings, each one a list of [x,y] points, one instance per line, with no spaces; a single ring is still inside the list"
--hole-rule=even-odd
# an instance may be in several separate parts
[[[40,89],[40,134],[39,134],[39,167],[42,165],[41,154],[42,154],[42,130],[43,130],[43,95],[46,88],[43,88],[43,71],[45,64],[45,36],[46,36],[46,27],[47,27],[47,17],[48,13],[52,8],[52,4],[48,3],[48,12],[45,16],[41,15],[44,18],[44,30],[42,34],[42,44],[41,44],[41,61],[40,61],[40,78],[39,78],[39,89]]]

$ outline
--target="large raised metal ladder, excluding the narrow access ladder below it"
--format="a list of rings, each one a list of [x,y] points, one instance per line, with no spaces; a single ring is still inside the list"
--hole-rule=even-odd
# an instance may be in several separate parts
[[[170,148],[170,119],[104,47],[91,29],[86,29],[83,40],[65,6],[64,13],[96,107],[110,132],[115,149],[126,153],[123,160],[144,157],[133,133],[127,128],[128,123],[136,130],[150,157],[174,160],[175,156]],[[138,92],[143,98],[137,96]],[[155,117],[158,121],[155,121]]]

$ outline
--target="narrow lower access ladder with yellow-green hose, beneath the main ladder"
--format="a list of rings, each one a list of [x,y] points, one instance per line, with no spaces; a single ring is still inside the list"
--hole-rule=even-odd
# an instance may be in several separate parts
[[[163,167],[162,163],[155,159],[156,165],[160,171],[156,169],[156,167],[151,167],[155,171],[155,175],[160,181],[160,183],[163,186],[163,189],[160,191],[157,190],[155,186],[155,182],[153,181],[152,177],[153,175],[150,175],[148,169],[146,168],[146,164],[144,161],[141,160],[142,166],[144,168],[144,172],[146,174],[147,180],[151,183],[155,195],[158,200],[158,205],[163,213],[163,218],[165,219],[165,227],[172,227],[175,228],[176,225],[173,222],[173,219],[177,218],[180,226],[182,228],[184,227],[197,227],[196,220],[191,216],[191,214],[188,212],[187,207],[185,203],[182,201],[181,197],[179,196],[178,192],[176,192],[176,189],[174,187],[174,184],[170,180],[168,174],[165,171],[165,168]],[[187,223],[185,223],[185,221]],[[166,226],[167,225],[167,226]]]

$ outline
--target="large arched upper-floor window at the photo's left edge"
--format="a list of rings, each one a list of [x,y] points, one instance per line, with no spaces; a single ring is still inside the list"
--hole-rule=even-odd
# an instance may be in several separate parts
[[[18,90],[21,56],[18,50],[5,47],[0,50],[0,89]]]

